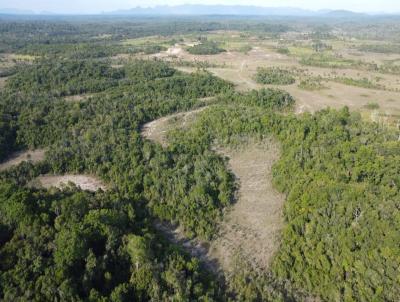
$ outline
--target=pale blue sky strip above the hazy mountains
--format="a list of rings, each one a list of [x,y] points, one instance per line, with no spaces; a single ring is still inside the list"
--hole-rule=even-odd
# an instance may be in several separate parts
[[[256,5],[267,7],[299,7],[303,9],[346,9],[356,12],[400,12],[400,0],[0,0],[0,9],[15,8],[35,12],[56,13],[100,13],[149,7],[155,5],[179,4],[225,4]]]

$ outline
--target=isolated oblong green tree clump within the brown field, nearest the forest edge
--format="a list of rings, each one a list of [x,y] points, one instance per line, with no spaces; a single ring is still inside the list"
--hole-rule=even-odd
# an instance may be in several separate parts
[[[279,67],[258,67],[254,79],[259,84],[290,85],[296,82],[289,70]]]

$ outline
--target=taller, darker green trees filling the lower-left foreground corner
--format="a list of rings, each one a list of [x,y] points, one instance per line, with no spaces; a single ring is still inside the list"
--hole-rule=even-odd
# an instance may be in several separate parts
[[[146,231],[137,202],[0,182],[0,205],[0,294],[6,301],[219,295],[197,260]]]

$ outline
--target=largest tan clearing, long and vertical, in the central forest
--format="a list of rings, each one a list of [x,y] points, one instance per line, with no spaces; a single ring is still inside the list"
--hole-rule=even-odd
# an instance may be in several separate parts
[[[236,259],[255,271],[266,271],[279,247],[283,226],[284,195],[272,186],[271,170],[279,158],[279,146],[271,139],[249,142],[237,150],[218,149],[229,158],[239,182],[238,200],[224,217],[209,258],[224,271],[232,271]]]

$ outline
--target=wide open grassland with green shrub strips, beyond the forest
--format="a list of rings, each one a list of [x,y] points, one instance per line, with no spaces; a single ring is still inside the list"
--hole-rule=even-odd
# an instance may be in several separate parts
[[[203,69],[233,82],[240,91],[261,87],[285,89],[296,98],[299,113],[342,106],[360,110],[368,119],[377,110],[382,116],[400,113],[399,76],[381,68],[388,64],[388,59],[392,63],[400,60],[400,54],[360,50],[361,45],[375,41],[331,38],[320,42],[322,46],[316,50],[315,41],[304,37],[301,40],[293,40],[293,36],[277,39],[237,31],[215,31],[203,36],[208,41],[218,42],[227,51],[215,55],[190,54],[186,51],[187,45],[198,43],[198,36],[181,35],[165,38],[179,42],[150,57],[187,62],[187,66],[181,68],[186,72],[197,69],[190,67],[190,62],[202,62]],[[131,43],[143,43],[143,40]],[[260,67],[290,70],[296,84],[259,84],[254,76]],[[379,109],[370,109],[371,102],[377,103]],[[394,125],[393,121],[390,125]]]

